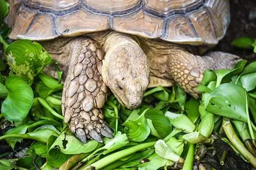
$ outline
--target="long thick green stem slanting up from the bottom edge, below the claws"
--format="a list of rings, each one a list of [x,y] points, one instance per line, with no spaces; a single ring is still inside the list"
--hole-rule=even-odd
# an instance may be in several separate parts
[[[121,159],[127,155],[133,154],[137,151],[140,151],[140,150],[143,150],[143,149],[146,149],[149,147],[153,147],[155,143],[156,142],[154,141],[154,142],[148,142],[148,143],[142,143],[142,144],[135,145],[134,147],[127,148],[125,150],[122,150],[122,151],[113,153],[109,156],[106,156],[106,157],[98,160],[97,162],[94,162],[90,166],[86,166],[86,167],[82,166],[79,169],[80,170],[91,170],[91,169],[97,170],[97,169],[103,168],[104,166],[109,165],[110,163],[115,162],[116,160]]]

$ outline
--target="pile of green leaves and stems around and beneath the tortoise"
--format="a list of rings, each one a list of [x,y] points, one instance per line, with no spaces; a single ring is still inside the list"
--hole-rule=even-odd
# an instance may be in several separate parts
[[[0,9],[6,9],[0,13],[3,19],[8,4],[0,1]],[[0,140],[15,156],[7,159],[10,151],[0,153],[0,169],[215,169],[203,158],[216,140],[256,167],[256,62],[206,70],[197,87],[201,99],[178,85],[156,87],[146,91],[138,109],[127,110],[110,95],[103,111],[114,138],[83,144],[63,122],[57,62],[35,41],[8,44],[9,29],[1,21],[0,42],[10,71],[1,60],[0,124],[9,130]],[[244,42],[238,39],[234,45]],[[42,72],[51,63],[58,80]],[[25,140],[29,147],[17,150],[17,143]],[[226,159],[223,152],[220,165]]]

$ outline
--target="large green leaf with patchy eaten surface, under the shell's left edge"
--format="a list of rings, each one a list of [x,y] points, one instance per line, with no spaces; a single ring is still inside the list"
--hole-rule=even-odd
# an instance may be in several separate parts
[[[11,70],[29,84],[51,62],[45,48],[31,40],[14,41],[6,48],[5,53]]]

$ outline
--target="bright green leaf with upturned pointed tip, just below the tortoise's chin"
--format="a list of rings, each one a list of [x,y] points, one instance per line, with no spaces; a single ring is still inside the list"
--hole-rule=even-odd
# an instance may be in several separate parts
[[[138,118],[130,119],[123,124],[125,126],[124,132],[132,141],[140,142],[150,135],[150,126],[147,124],[145,112],[146,110]]]

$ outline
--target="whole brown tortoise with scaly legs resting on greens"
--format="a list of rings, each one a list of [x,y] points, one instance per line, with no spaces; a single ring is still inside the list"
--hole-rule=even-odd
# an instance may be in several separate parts
[[[147,88],[175,82],[198,98],[206,69],[240,60],[206,53],[227,30],[228,0],[9,3],[9,37],[40,41],[65,72],[62,114],[83,143],[113,137],[101,110],[109,89],[128,109],[140,106]]]

